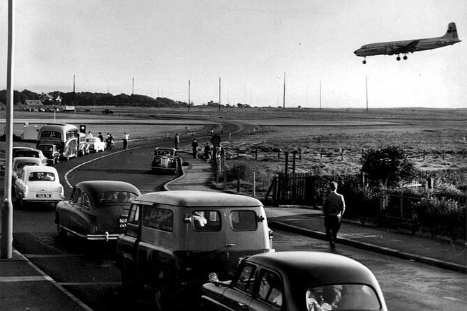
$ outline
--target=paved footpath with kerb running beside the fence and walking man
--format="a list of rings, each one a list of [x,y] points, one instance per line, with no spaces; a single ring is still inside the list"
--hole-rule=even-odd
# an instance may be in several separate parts
[[[165,190],[212,189],[212,166],[201,159],[188,159],[184,174],[165,185]],[[323,211],[297,206],[265,206],[269,227],[297,234],[326,239]],[[466,243],[454,243],[431,236],[418,236],[380,227],[369,227],[345,219],[337,237],[337,243],[372,250],[403,259],[453,271],[467,271]]]

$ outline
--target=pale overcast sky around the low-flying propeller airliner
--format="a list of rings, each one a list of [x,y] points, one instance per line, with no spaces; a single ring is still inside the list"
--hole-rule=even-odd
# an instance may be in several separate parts
[[[0,3],[6,89],[7,2]],[[362,57],[367,43],[457,45]],[[16,0],[18,91],[91,91],[286,107],[467,107],[466,0]]]

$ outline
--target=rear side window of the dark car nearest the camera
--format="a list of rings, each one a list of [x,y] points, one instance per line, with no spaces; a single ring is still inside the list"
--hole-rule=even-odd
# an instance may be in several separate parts
[[[281,307],[283,287],[281,278],[277,273],[262,269],[257,284],[256,296],[258,300]]]

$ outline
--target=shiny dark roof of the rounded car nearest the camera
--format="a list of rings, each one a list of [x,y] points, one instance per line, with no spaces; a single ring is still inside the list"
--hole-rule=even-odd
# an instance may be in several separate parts
[[[377,284],[369,268],[354,259],[329,252],[272,252],[253,255],[246,261],[281,271],[290,280],[306,280],[310,285]]]

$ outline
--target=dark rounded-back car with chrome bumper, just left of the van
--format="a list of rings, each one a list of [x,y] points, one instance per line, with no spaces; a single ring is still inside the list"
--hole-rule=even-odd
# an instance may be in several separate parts
[[[88,241],[116,240],[126,227],[131,202],[140,190],[124,181],[82,181],[68,201],[57,204],[55,223],[59,236]]]

